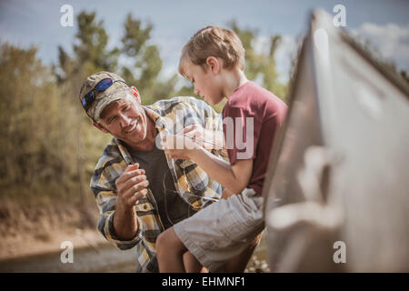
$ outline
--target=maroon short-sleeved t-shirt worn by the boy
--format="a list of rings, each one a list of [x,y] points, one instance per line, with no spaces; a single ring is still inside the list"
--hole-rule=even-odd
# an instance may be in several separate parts
[[[274,137],[286,111],[287,105],[280,98],[251,81],[238,87],[224,105],[223,131],[230,165],[240,159],[254,159],[247,187],[257,196],[263,193]]]

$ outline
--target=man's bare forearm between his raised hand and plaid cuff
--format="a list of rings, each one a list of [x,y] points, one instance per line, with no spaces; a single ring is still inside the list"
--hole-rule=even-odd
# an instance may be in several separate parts
[[[114,228],[116,236],[118,236],[120,240],[133,239],[138,230],[135,207],[125,208],[117,204],[115,208]]]

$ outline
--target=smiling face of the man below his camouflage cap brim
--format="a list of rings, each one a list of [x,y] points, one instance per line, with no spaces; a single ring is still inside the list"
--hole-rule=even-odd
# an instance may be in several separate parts
[[[100,125],[125,144],[135,145],[145,140],[147,116],[136,99],[123,98],[106,105],[100,115]]]

